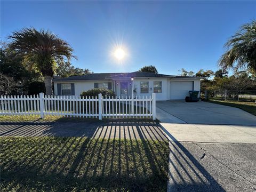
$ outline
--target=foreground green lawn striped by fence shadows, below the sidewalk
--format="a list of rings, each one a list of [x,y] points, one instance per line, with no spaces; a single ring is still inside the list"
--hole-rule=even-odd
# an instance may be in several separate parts
[[[166,191],[168,143],[4,137],[1,191]]]

